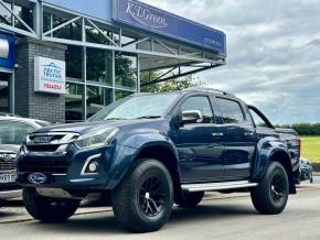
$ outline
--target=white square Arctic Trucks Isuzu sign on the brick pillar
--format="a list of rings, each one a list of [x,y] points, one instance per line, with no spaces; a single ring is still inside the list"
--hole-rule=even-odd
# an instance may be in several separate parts
[[[65,62],[35,56],[34,91],[66,94]]]

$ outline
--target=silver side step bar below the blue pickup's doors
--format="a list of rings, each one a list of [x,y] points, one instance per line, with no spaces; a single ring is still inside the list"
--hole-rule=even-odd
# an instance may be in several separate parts
[[[234,182],[221,182],[221,183],[205,183],[205,184],[183,184],[182,190],[185,192],[202,192],[202,190],[226,190],[256,187],[257,183],[250,183],[248,181],[234,181]]]

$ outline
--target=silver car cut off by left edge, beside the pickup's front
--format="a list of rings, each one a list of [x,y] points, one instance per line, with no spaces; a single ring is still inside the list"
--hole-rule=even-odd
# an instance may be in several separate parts
[[[26,134],[49,122],[2,114],[0,117],[0,200],[21,196],[15,183],[17,153]]]

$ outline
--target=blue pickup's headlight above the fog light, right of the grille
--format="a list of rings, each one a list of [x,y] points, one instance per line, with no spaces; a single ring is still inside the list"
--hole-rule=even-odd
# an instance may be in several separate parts
[[[90,132],[81,135],[76,141],[75,145],[79,149],[93,149],[104,145],[108,145],[113,137],[119,131],[119,129],[108,128],[102,129],[96,132]]]

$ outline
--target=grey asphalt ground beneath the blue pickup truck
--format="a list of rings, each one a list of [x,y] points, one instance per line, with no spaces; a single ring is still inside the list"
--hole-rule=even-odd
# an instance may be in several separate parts
[[[175,207],[160,231],[132,234],[109,208],[81,208],[67,222],[46,225],[14,200],[0,209],[0,239],[320,239],[319,203],[320,177],[299,186],[279,216],[257,214],[247,194],[210,194],[196,209]]]

